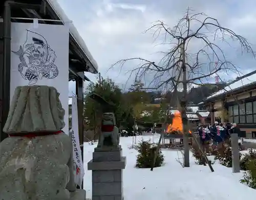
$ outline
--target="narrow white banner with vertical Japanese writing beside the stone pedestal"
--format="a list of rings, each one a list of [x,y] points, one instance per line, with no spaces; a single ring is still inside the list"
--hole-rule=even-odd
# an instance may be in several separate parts
[[[73,143],[73,159],[76,164],[75,183],[81,188],[84,168],[82,163],[82,153],[79,143],[78,134],[78,113],[77,113],[77,98],[72,97],[72,143]]]

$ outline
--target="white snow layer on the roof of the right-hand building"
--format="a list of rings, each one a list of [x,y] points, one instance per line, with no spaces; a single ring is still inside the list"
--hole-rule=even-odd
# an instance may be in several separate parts
[[[252,84],[253,82],[256,82],[256,74],[252,74],[248,77],[242,78],[242,79],[224,87],[223,90],[220,90],[220,91],[210,95],[209,97],[206,98],[206,100],[210,99],[210,98],[213,98],[213,97],[217,97],[217,96],[222,95],[222,94],[227,93],[227,92],[231,92],[233,90],[237,90],[239,88],[242,88],[244,86]]]

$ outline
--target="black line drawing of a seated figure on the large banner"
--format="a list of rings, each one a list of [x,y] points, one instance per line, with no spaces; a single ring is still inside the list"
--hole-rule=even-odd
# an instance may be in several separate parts
[[[55,52],[45,37],[36,32],[27,30],[25,43],[12,53],[19,57],[18,71],[29,85],[36,84],[38,80],[56,78],[59,74]]]

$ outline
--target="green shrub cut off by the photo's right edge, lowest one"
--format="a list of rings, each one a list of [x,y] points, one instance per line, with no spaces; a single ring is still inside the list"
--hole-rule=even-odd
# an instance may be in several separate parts
[[[256,189],[256,160],[249,160],[246,165],[248,171],[244,172],[243,179],[240,182]]]

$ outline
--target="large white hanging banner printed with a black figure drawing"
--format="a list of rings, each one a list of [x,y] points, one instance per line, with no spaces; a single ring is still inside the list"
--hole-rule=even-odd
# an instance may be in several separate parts
[[[69,134],[69,28],[12,23],[10,99],[16,86],[49,85],[60,93]]]

